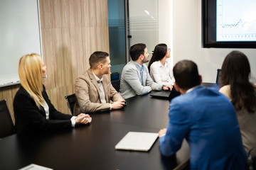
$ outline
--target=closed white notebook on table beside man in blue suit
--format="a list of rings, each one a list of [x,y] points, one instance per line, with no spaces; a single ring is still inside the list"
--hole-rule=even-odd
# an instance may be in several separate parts
[[[128,132],[127,135],[115,145],[115,149],[147,152],[152,147],[157,137],[158,133]]]

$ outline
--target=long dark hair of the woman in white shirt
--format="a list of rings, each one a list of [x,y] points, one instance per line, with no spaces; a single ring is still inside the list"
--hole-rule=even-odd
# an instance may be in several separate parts
[[[148,68],[149,68],[149,72],[150,72],[150,66],[153,62],[159,61],[162,58],[164,58],[164,56],[166,55],[167,52],[167,45],[166,44],[159,44],[156,45],[155,49],[154,49],[154,53],[151,57],[151,60],[149,62]]]

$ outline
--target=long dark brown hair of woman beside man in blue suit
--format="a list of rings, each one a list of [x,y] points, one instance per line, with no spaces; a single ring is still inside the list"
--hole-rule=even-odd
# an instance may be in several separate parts
[[[230,52],[221,67],[221,86],[230,85],[231,102],[236,110],[256,110],[255,86],[250,83],[250,63],[240,51]]]

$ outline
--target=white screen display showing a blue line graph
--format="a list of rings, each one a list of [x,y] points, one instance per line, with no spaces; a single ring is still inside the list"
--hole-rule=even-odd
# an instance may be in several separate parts
[[[217,0],[217,41],[256,41],[256,1]]]

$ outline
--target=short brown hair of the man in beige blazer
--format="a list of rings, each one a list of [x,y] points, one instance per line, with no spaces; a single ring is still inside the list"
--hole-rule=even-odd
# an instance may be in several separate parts
[[[105,64],[107,62],[106,57],[110,56],[107,52],[96,51],[93,52],[89,58],[89,64],[92,69],[96,69],[96,67],[102,63]]]

